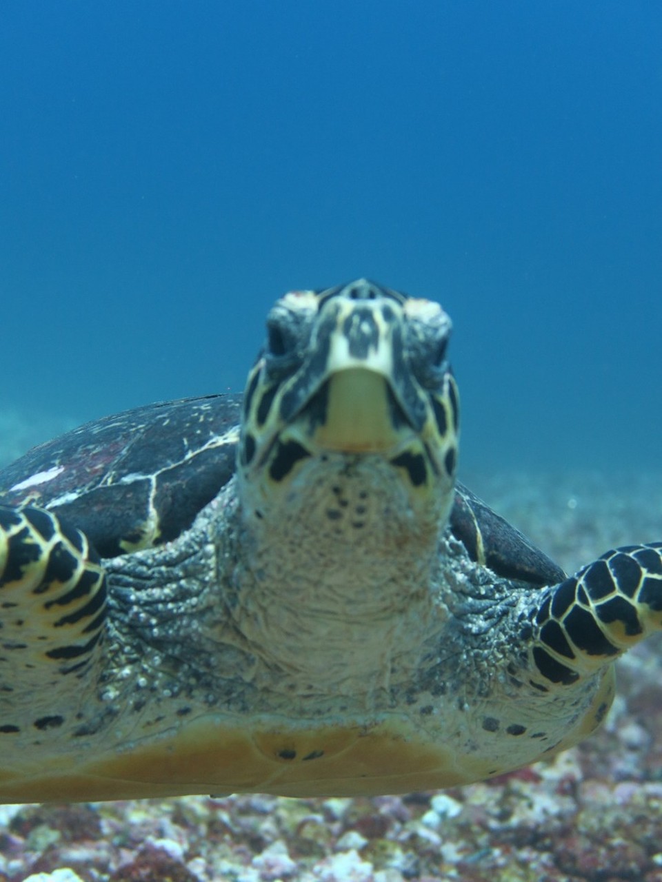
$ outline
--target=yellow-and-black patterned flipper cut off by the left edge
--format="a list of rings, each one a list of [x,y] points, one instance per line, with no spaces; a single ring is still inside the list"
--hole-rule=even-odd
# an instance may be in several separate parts
[[[44,509],[0,505],[0,691],[43,695],[87,672],[105,615],[105,573],[87,537]]]

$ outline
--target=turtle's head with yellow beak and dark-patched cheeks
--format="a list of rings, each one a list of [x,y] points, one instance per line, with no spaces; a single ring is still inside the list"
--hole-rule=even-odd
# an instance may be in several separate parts
[[[437,303],[365,279],[275,303],[237,454],[244,502],[258,518],[286,517],[297,488],[312,492],[329,476],[326,492],[337,496],[334,474],[348,482],[361,473],[392,486],[390,508],[414,519],[425,510],[437,526],[446,519],[458,441],[450,330]],[[342,515],[331,501],[326,511]]]

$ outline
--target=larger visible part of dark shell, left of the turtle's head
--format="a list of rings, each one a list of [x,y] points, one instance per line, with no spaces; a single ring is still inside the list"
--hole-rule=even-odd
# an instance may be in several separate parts
[[[241,400],[209,395],[87,422],[0,471],[0,502],[56,512],[102,557],[169,542],[234,474]]]

